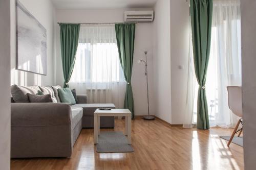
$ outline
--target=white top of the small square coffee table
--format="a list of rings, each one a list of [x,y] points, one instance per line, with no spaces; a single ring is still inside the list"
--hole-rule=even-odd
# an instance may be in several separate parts
[[[99,110],[96,109],[94,115],[97,116],[131,116],[132,113],[129,109],[111,109],[111,110]]]

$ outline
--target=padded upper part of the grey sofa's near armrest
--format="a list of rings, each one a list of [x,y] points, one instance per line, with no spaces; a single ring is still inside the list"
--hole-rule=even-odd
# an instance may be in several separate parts
[[[11,103],[11,126],[71,127],[71,107],[63,103]]]

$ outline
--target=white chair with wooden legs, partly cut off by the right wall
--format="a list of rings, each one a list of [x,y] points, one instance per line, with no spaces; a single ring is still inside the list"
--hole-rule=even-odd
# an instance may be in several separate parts
[[[234,128],[234,131],[227,143],[227,146],[229,147],[229,144],[231,143],[234,135],[239,132],[238,136],[241,135],[243,130],[243,110],[242,110],[242,88],[240,86],[227,86],[228,91],[228,107],[229,109],[238,117],[241,117],[238,120],[238,123],[236,127]],[[242,128],[238,130],[239,125],[242,125]]]

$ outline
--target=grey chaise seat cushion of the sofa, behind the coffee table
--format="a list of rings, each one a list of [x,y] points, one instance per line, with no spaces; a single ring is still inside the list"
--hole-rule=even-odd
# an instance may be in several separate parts
[[[93,116],[96,109],[99,107],[108,107],[115,109],[115,105],[112,103],[92,103],[92,104],[75,104],[71,108],[81,107],[83,108],[83,116]]]

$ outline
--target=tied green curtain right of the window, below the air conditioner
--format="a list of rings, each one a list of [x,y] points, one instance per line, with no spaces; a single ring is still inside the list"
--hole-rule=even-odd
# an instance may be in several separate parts
[[[115,29],[119,60],[123,69],[125,80],[127,82],[124,108],[129,109],[132,112],[132,118],[134,118],[134,102],[131,77],[133,69],[135,23],[117,23],[115,24]]]

